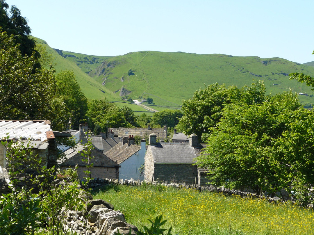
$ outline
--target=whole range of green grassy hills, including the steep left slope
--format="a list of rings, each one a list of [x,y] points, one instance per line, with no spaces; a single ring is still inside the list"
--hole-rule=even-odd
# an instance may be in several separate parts
[[[183,52],[131,52],[123,56],[91,56],[52,49],[41,39],[52,55],[57,72],[73,70],[81,89],[89,99],[106,97],[109,101],[120,101],[133,110],[146,112],[142,107],[122,101],[121,96],[133,99],[150,96],[152,108],[177,109],[182,99],[213,83],[251,85],[253,79],[264,80],[267,94],[276,94],[291,89],[308,96],[299,96],[302,103],[314,103],[314,93],[306,84],[289,80],[289,73],[303,72],[314,76],[309,63],[298,64],[282,58],[236,57],[222,54],[198,55]],[[308,65],[307,65],[308,64]],[[134,75],[128,75],[129,69]],[[89,74],[89,75],[88,75]],[[122,101],[122,102],[121,102]]]

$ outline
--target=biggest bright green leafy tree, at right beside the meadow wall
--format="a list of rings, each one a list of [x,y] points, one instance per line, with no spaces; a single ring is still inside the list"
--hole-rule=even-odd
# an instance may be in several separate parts
[[[292,183],[300,191],[300,185],[313,184],[313,121],[313,112],[291,92],[267,96],[262,103],[230,103],[217,128],[211,128],[197,164],[226,187],[273,196],[280,189],[291,193]]]

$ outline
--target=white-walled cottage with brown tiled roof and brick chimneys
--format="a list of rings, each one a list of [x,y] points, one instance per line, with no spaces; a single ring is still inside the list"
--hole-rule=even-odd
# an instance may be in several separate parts
[[[143,180],[143,172],[141,173],[139,168],[144,164],[145,147],[145,139],[141,140],[141,145],[135,145],[134,137],[129,135],[129,137],[122,138],[122,143],[115,145],[105,154],[121,165],[120,178]]]

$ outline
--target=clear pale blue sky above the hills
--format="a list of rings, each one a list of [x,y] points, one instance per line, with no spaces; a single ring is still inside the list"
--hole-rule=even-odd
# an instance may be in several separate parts
[[[89,55],[221,53],[314,61],[314,1],[6,0],[32,35]]]

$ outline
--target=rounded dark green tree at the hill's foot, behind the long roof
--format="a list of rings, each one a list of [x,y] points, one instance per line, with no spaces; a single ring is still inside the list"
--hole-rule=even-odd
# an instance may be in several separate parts
[[[182,118],[182,116],[183,113],[180,110],[165,109],[160,112],[155,112],[152,121],[161,127],[166,126],[167,128],[173,128],[179,123],[179,119]]]

